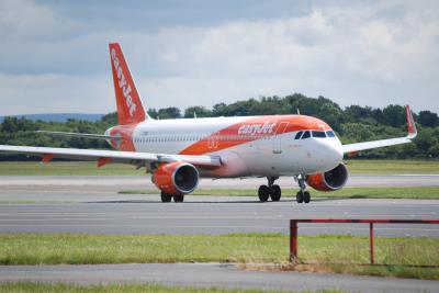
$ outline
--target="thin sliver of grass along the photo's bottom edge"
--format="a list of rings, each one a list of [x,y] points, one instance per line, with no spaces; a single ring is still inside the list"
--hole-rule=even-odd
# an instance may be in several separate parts
[[[286,291],[266,291],[266,290],[243,290],[243,289],[196,289],[184,286],[167,286],[159,284],[99,284],[99,285],[78,285],[78,284],[63,284],[63,283],[33,283],[33,282],[13,282],[0,284],[0,292],[5,293],[103,293],[103,292],[121,292],[121,293],[274,293]],[[291,292],[291,291],[288,291]],[[316,292],[316,293],[342,293],[340,290],[319,290],[319,291],[300,291]]]

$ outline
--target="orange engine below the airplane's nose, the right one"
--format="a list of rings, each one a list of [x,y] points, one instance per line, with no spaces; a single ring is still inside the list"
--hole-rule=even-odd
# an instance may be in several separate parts
[[[348,169],[345,164],[340,164],[325,173],[311,174],[306,178],[306,183],[318,191],[339,190],[346,181],[348,181]]]

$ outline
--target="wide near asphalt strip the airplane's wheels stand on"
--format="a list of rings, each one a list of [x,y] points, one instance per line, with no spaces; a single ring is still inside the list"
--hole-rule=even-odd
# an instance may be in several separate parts
[[[10,192],[0,192],[0,199]],[[15,198],[23,194],[15,193]],[[26,196],[27,193],[24,194]],[[45,203],[44,196],[74,200]],[[290,218],[424,218],[439,217],[439,201],[291,200],[260,203],[243,196],[187,196],[184,203],[161,203],[155,195],[115,193],[41,193],[43,202],[0,204],[0,233],[77,232],[98,234],[284,233]],[[78,200],[83,200],[78,202]],[[301,224],[300,233],[368,235],[367,224]],[[438,225],[382,224],[376,235],[439,237]]]

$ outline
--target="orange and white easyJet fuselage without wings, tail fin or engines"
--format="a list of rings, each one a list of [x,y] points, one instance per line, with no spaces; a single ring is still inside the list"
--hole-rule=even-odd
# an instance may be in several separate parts
[[[299,132],[311,136],[295,139]],[[147,120],[115,126],[106,134],[123,137],[114,148],[179,155],[218,156],[222,168],[201,169],[202,177],[279,177],[326,172],[340,164],[344,151],[325,122],[305,115]],[[325,133],[326,134],[326,133]]]

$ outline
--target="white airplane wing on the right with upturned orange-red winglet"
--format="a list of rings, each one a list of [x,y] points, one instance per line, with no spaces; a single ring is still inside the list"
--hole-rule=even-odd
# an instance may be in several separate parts
[[[344,153],[352,154],[352,153],[357,153],[357,151],[365,150],[365,149],[386,147],[386,146],[396,146],[396,145],[412,143],[412,139],[414,139],[416,137],[418,132],[416,129],[415,121],[413,120],[413,115],[412,115],[409,105],[406,105],[405,110],[406,110],[406,115],[407,115],[407,127],[408,127],[407,136],[344,145],[342,146]]]

